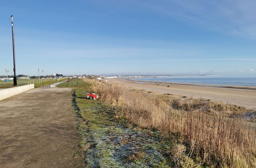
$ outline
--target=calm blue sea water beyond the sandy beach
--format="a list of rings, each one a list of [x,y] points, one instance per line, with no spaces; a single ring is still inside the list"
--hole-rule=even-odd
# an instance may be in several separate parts
[[[135,78],[143,81],[163,81],[177,83],[198,83],[211,85],[256,86],[256,76],[189,76]]]

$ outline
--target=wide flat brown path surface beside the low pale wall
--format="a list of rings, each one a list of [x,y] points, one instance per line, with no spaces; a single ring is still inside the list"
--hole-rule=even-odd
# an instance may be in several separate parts
[[[0,101],[0,167],[80,167],[71,89],[39,88]]]

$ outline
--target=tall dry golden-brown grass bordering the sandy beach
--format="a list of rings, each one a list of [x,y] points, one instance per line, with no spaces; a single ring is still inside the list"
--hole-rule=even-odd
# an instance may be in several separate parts
[[[189,157],[200,157],[202,162],[222,167],[255,167],[255,130],[238,118],[227,118],[226,113],[240,113],[245,108],[202,100],[184,100],[129,92],[121,86],[95,82],[91,88],[100,100],[119,107],[119,116],[149,129],[172,135],[180,143],[193,147]],[[214,115],[209,115],[214,114]],[[174,157],[177,166],[178,146]],[[187,166],[186,166],[187,167]]]

